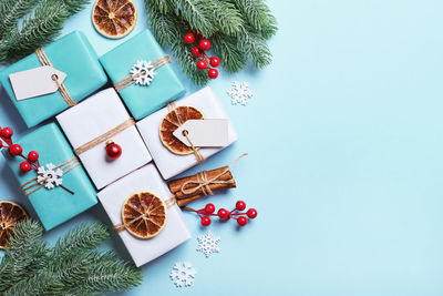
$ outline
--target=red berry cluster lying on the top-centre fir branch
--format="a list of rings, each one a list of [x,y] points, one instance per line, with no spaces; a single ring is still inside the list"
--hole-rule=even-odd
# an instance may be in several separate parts
[[[220,65],[220,59],[217,57],[209,58],[205,53],[205,51],[210,49],[209,40],[204,39],[200,33],[198,33],[197,37],[193,33],[187,33],[184,39],[186,44],[193,44],[197,40],[196,43],[198,45],[195,45],[190,51],[195,58],[202,57],[202,59],[197,61],[197,69],[202,71],[208,69],[208,76],[210,79],[216,79],[218,76],[218,71],[215,68]]]

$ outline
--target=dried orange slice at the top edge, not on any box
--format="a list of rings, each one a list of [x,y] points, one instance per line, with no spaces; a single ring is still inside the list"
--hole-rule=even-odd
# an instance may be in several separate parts
[[[131,0],[97,0],[92,9],[95,29],[107,38],[128,34],[137,21],[137,11]]]

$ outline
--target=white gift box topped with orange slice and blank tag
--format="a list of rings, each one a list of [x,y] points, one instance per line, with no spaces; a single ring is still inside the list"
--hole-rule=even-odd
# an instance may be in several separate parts
[[[175,101],[175,106],[194,106],[203,113],[204,119],[229,119],[222,103],[209,86],[182,100]],[[165,180],[168,180],[198,163],[193,153],[186,155],[175,154],[163,144],[159,136],[159,127],[163,119],[168,112],[168,108],[163,108],[137,122],[138,131],[142,134],[158,171]],[[237,141],[237,134],[230,121],[228,121],[227,140],[227,145],[225,146],[202,147],[199,149],[199,153],[206,160]]]

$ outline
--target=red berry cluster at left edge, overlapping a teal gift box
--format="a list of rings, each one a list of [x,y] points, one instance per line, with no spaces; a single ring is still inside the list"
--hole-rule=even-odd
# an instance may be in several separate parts
[[[39,153],[37,151],[31,151],[28,153],[28,157],[23,155],[23,147],[20,144],[14,144],[12,142],[13,131],[11,127],[0,127],[0,149],[8,149],[8,153],[11,156],[20,156],[24,159],[24,162],[20,163],[20,170],[22,172],[29,172],[31,170],[37,170],[40,166]],[[3,141],[2,141],[3,140]]]

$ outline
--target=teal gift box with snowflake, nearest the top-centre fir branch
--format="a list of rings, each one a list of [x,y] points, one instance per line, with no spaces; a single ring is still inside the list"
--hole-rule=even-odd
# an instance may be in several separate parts
[[[154,62],[165,55],[148,30],[144,30],[100,58],[104,70],[115,84],[130,74],[137,61]],[[120,95],[136,120],[141,120],[167,102],[185,94],[185,88],[175,74],[171,63],[155,70],[150,85],[131,84],[120,91]]]

